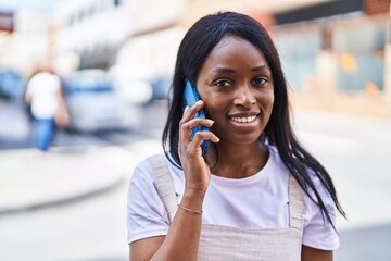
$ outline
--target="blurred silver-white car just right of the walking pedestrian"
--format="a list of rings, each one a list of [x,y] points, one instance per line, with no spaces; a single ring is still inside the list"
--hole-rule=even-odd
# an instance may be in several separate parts
[[[140,122],[140,108],[115,92],[102,70],[80,70],[63,79],[68,129],[99,132],[129,128]]]

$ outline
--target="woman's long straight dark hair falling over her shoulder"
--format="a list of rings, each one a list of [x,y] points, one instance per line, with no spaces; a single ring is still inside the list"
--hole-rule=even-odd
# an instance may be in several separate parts
[[[164,151],[166,151],[166,154],[169,153],[168,159],[173,159],[173,163],[180,167],[178,142],[185,82],[186,79],[192,83],[197,82],[204,61],[225,36],[238,36],[245,39],[265,55],[272,70],[275,102],[270,120],[258,140],[262,144],[268,144],[277,148],[290,173],[305,194],[320,208],[323,216],[326,216],[333,226],[325,202],[311,178],[311,173],[319,178],[338,211],[345,216],[338,201],[336,188],[326,169],[298,142],[290,123],[287,82],[282,73],[279,55],[266,29],[250,16],[234,12],[207,15],[199,20],[185,35],[178,50],[168,103],[168,117],[163,130]],[[311,191],[314,192],[315,198],[311,196]]]

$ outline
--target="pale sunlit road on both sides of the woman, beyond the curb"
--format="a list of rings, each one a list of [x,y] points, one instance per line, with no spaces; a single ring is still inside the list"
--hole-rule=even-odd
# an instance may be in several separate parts
[[[152,104],[136,129],[59,142],[115,144],[136,160],[161,150],[165,105]],[[336,261],[391,261],[391,121],[297,111],[300,140],[332,175],[348,221],[338,219]],[[99,197],[0,216],[1,260],[127,260],[126,181]],[[31,188],[33,189],[33,188]]]

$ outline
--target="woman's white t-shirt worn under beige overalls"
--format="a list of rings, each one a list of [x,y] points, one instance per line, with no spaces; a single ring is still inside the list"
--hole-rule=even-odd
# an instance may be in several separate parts
[[[266,165],[245,178],[225,178],[212,175],[203,202],[203,224],[239,228],[277,228],[289,226],[289,172],[273,147]],[[185,175],[166,159],[173,177],[177,201],[184,195]],[[314,176],[331,217],[335,204],[320,182]],[[128,243],[166,235],[168,216],[155,189],[152,167],[147,160],[135,169],[128,190]],[[303,245],[335,250],[339,247],[338,234],[321,217],[320,209],[305,196],[303,216]]]

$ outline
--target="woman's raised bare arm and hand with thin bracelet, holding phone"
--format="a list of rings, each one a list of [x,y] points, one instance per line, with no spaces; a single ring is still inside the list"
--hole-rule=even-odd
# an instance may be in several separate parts
[[[213,121],[194,120],[202,102],[186,108],[179,127],[179,157],[185,173],[185,192],[180,206],[202,211],[203,199],[211,179],[211,171],[202,158],[203,139],[218,142],[211,132],[199,132],[191,140],[191,129],[198,125],[211,127]],[[149,237],[130,244],[130,260],[197,260],[202,214],[178,208],[166,236]]]

